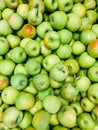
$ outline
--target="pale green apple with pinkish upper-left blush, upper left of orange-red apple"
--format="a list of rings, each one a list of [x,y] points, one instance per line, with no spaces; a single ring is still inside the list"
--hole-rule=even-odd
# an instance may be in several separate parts
[[[13,30],[19,30],[24,22],[23,18],[18,13],[11,14],[7,21]]]

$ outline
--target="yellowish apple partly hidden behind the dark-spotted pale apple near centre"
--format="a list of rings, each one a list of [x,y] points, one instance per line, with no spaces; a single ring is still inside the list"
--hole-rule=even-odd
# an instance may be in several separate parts
[[[64,65],[68,67],[69,74],[73,75],[79,71],[79,63],[75,59],[67,59],[64,61]]]

